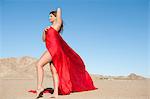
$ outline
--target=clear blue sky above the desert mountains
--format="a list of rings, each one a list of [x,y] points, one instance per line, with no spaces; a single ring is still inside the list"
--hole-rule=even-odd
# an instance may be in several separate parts
[[[149,0],[1,0],[0,57],[39,58],[42,31],[60,7],[63,39],[89,73],[150,77]]]

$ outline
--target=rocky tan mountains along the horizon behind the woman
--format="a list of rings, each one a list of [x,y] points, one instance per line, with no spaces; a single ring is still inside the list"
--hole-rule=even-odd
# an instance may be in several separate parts
[[[36,63],[37,59],[29,56],[24,57],[10,57],[0,58],[0,78],[13,78],[13,79],[34,79],[36,77]],[[44,67],[45,76],[51,77],[51,71],[48,66]],[[146,79],[135,73],[127,76],[103,76],[91,74],[93,79],[100,80],[143,80]]]

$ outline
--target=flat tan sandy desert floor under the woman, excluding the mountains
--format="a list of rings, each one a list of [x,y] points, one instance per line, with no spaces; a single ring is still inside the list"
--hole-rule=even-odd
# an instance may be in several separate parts
[[[52,79],[44,79],[44,87],[53,87]],[[98,90],[60,95],[58,99],[150,99],[150,80],[99,80],[94,79]],[[28,90],[36,89],[36,79],[0,80],[0,99],[35,99]],[[43,98],[52,99],[49,93]]]

